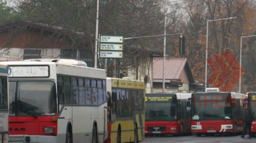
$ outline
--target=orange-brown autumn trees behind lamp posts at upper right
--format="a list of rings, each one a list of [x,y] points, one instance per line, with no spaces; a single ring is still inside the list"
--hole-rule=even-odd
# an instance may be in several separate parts
[[[218,57],[213,55],[220,55],[221,51],[231,51],[239,61],[241,36],[256,34],[255,1],[191,0],[174,6],[180,7],[183,12],[183,17],[187,19],[180,25],[186,36],[186,57],[189,59],[188,62],[194,78],[201,83],[205,82],[207,20],[236,17],[208,22],[208,58],[218,59]],[[243,38],[242,42],[242,67],[244,69],[244,75],[242,76],[242,92],[256,90],[254,86],[256,81],[252,80],[256,78],[255,39],[256,37]],[[170,46],[169,48],[175,49],[178,52],[178,42],[175,40],[170,40],[169,42],[176,43],[175,46]],[[178,55],[177,52],[176,55]],[[207,69],[207,75],[209,77],[212,70],[209,66]],[[229,72],[229,74],[230,73],[231,72]],[[236,84],[236,82],[234,82],[234,84]],[[235,86],[233,91],[238,91],[238,89],[238,86]]]

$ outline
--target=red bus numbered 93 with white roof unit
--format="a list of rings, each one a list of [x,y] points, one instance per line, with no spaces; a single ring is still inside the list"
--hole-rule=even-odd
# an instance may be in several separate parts
[[[243,131],[245,94],[219,92],[219,88],[207,88],[209,92],[192,93],[191,132],[197,136],[214,134],[236,135]]]

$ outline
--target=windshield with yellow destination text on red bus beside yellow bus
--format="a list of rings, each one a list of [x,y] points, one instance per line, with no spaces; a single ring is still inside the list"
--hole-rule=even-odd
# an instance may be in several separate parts
[[[165,98],[157,100],[150,98]],[[169,99],[166,99],[169,98]],[[146,97],[145,121],[174,121],[177,120],[177,100],[172,97]]]

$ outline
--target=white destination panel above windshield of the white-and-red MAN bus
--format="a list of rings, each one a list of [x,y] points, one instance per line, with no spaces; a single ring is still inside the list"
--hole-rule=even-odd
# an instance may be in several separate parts
[[[9,65],[8,75],[12,77],[49,77],[49,66],[11,66]]]

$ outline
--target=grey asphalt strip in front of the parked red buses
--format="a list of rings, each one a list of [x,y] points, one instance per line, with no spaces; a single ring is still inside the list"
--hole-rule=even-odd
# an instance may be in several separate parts
[[[248,135],[245,138],[241,138],[238,136],[200,136],[196,135],[192,136],[181,136],[181,137],[173,137],[173,136],[153,136],[146,137],[141,143],[255,143],[256,137],[248,138]]]

